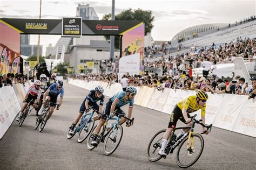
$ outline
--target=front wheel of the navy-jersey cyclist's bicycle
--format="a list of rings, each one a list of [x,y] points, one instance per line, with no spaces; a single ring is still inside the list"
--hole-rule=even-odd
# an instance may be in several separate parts
[[[78,143],[82,143],[89,136],[89,134],[93,129],[94,123],[95,123],[94,119],[91,118],[83,124],[77,136]]]

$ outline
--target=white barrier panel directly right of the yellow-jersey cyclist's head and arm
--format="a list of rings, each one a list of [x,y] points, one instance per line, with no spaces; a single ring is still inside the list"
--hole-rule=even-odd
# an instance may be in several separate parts
[[[206,102],[206,119],[205,123],[210,125],[214,122],[214,119],[218,113],[221,103],[223,102],[223,94],[209,95],[209,99]]]

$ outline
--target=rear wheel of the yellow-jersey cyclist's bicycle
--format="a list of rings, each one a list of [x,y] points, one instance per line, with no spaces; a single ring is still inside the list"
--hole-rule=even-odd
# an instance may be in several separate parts
[[[163,129],[154,134],[154,136],[150,140],[149,145],[147,146],[147,159],[149,159],[152,162],[156,162],[163,158],[158,154],[158,151],[161,148],[161,142],[165,131],[166,129]]]

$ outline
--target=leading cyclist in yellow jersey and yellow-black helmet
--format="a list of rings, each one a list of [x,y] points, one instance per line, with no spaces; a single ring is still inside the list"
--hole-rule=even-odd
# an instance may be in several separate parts
[[[201,119],[203,120],[202,123],[205,124],[205,109],[207,99],[208,95],[205,93],[205,91],[198,90],[196,96],[189,96],[185,100],[177,103],[172,111],[168,129],[164,133],[161,149],[158,152],[159,155],[166,155],[165,145],[169,139],[170,134],[173,132],[173,129],[176,128],[178,119],[180,119],[180,121],[182,121],[183,123],[187,123],[188,126],[191,126],[192,122],[189,114],[201,109]],[[178,134],[177,140],[189,130],[190,129],[183,129]],[[204,126],[202,126],[202,131],[206,131],[205,134],[209,133],[208,130],[204,128]]]

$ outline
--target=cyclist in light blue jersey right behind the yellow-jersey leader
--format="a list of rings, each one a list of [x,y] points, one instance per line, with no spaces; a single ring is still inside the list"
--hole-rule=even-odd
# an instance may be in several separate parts
[[[93,132],[94,138],[91,141],[92,146],[98,145],[96,140],[98,138],[99,131],[102,128],[102,126],[104,125],[104,123],[106,122],[107,117],[112,115],[114,110],[117,110],[117,113],[120,115],[125,115],[125,112],[120,108],[126,104],[129,104],[127,118],[131,118],[133,103],[134,103],[134,96],[136,94],[137,94],[137,89],[132,86],[129,86],[129,87],[127,87],[126,91],[120,91],[116,95],[114,95],[113,97],[110,98],[110,100],[106,103],[106,106],[103,110],[102,118],[100,119],[95,131]],[[126,119],[124,117],[122,117],[119,121],[119,124],[122,125],[125,122],[126,122]],[[130,126],[129,122],[126,122],[126,125],[129,127]]]

